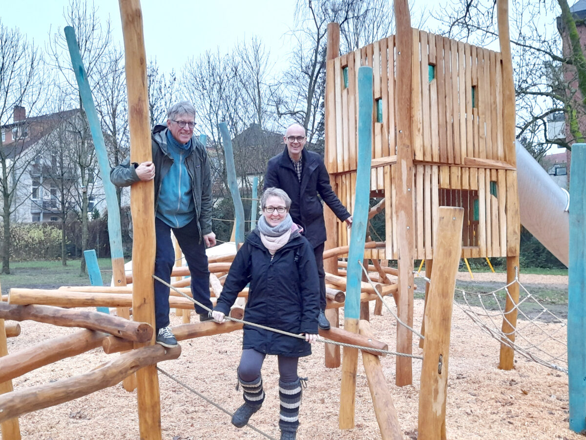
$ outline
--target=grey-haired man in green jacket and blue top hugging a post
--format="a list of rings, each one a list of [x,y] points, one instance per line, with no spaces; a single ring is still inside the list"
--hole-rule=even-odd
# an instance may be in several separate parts
[[[113,168],[110,180],[118,187],[154,180],[155,185],[155,275],[171,282],[175,250],[171,230],[185,255],[191,273],[193,298],[212,308],[206,247],[216,245],[212,232],[212,177],[206,148],[195,136],[195,109],[180,101],[167,111],[166,126],[152,130],[152,162],[125,161]],[[135,237],[140,239],[140,237]],[[212,319],[195,305],[201,321]],[[156,342],[175,347],[169,327],[169,288],[155,281]]]

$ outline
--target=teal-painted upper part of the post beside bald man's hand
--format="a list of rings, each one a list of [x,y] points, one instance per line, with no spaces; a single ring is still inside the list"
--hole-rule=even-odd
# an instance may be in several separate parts
[[[356,191],[350,249],[348,252],[346,304],[344,316],[351,319],[360,317],[360,282],[362,268],[358,262],[364,258],[364,242],[368,223],[370,197],[370,160],[372,158],[372,110],[373,110],[372,67],[358,69],[358,165],[356,168]]]

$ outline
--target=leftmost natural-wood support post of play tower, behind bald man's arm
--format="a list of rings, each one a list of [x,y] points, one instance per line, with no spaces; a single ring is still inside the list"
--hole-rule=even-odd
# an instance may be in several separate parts
[[[326,60],[333,60],[340,53],[340,25],[338,23],[328,24],[328,45],[326,49]],[[329,65],[328,65],[329,66]],[[331,65],[333,68],[333,64]],[[327,66],[326,66],[327,69]],[[328,75],[326,75],[328,76]],[[330,75],[331,76],[331,75]],[[328,78],[330,78],[328,76]],[[329,137],[329,131],[332,127],[335,127],[335,108],[331,105],[335,93],[334,84],[331,80],[326,80],[326,92],[325,96],[328,97],[328,104],[325,106],[325,157],[328,157],[328,151],[333,149],[336,150],[336,144],[334,140]],[[328,161],[325,161],[326,165]],[[332,189],[336,192],[336,182],[330,182]],[[328,231],[327,239],[325,242],[324,250],[338,247],[338,219],[333,214],[332,210],[328,205],[323,207],[323,218],[326,224],[326,231]],[[323,270],[326,273],[332,275],[338,275],[338,256],[333,258],[323,259]],[[325,316],[329,323],[333,327],[338,327],[340,322],[338,309],[326,309]],[[326,344],[325,346],[325,365],[327,368],[338,368],[340,366],[340,347]]]

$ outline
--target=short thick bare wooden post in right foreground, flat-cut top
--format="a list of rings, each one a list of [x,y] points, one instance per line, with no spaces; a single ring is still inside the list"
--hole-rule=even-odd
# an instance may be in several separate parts
[[[425,309],[426,334],[419,391],[418,440],[445,440],[449,334],[456,273],[462,252],[463,208],[440,207],[434,239],[435,270]]]

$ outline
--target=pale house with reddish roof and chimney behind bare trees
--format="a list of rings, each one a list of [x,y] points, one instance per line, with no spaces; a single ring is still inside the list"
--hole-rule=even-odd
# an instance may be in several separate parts
[[[11,221],[60,221],[63,212],[80,211],[80,192],[87,192],[88,212],[105,209],[95,167],[88,170],[83,188],[80,167],[73,160],[75,150],[71,145],[80,137],[76,131],[81,126],[80,118],[77,109],[26,117],[25,108],[15,106],[12,123],[0,126],[2,155],[17,185]]]

